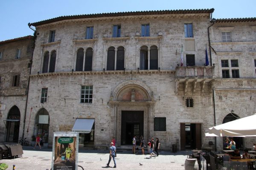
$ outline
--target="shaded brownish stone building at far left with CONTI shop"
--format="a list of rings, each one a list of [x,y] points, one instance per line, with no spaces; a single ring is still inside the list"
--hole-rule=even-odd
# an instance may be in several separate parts
[[[0,142],[18,142],[23,134],[24,114],[33,36],[0,42]]]

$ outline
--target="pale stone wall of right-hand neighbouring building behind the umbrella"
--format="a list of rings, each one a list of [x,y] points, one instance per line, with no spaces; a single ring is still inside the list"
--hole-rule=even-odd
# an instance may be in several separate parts
[[[256,32],[255,22],[215,23],[210,29],[212,63],[215,63],[215,111],[216,125],[231,110],[240,118],[256,113]],[[253,27],[254,26],[254,27]],[[230,31],[232,42],[222,42],[221,32]],[[229,60],[229,68],[221,67],[221,59]],[[239,67],[232,68],[231,59],[238,59]],[[222,79],[222,69],[239,69],[240,79]],[[231,72],[230,72],[231,73]],[[242,126],[242,125],[238,125]],[[244,138],[244,147],[252,147],[255,137]],[[217,147],[223,147],[223,139],[217,137]]]

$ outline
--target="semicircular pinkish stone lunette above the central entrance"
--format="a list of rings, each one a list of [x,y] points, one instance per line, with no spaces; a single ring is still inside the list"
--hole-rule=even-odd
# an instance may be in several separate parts
[[[131,101],[131,91],[134,89],[135,102],[150,101],[151,90],[143,82],[137,80],[128,80],[120,83],[113,90],[113,100],[129,102]]]

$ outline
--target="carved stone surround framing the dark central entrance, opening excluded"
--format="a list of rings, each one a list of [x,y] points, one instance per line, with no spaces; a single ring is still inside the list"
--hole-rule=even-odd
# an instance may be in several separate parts
[[[153,135],[153,92],[143,82],[129,80],[120,83],[111,93],[108,103],[111,105],[111,136],[116,138],[116,146],[121,145],[122,111],[143,111],[144,139]]]

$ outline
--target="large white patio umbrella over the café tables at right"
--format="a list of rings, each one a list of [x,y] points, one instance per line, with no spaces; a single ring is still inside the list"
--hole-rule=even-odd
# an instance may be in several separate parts
[[[256,114],[209,128],[206,136],[256,136]]]

